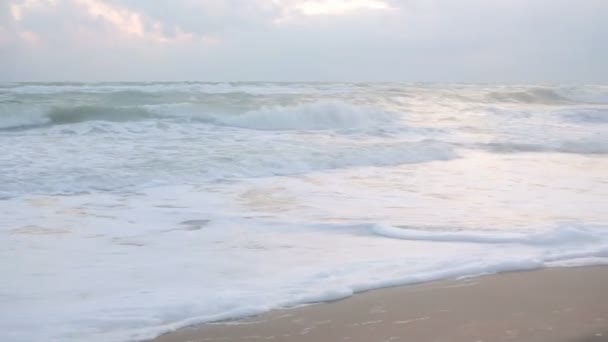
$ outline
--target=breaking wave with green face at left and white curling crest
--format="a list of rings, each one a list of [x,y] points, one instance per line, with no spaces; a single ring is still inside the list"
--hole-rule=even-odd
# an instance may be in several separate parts
[[[3,109],[0,130],[25,130],[41,126],[87,121],[127,122],[175,119],[255,130],[323,130],[365,128],[393,123],[397,114],[343,102],[315,102],[288,107],[246,111],[242,114],[212,113],[188,103],[144,106],[63,106]]]

